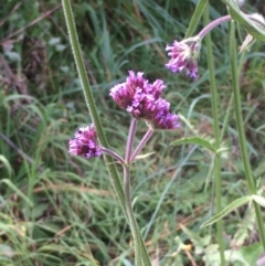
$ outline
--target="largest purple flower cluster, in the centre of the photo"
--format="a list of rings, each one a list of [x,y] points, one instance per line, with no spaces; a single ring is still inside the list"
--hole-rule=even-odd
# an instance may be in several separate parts
[[[129,71],[125,83],[110,88],[109,95],[136,119],[146,119],[153,128],[173,129],[180,127],[179,116],[170,114],[170,104],[161,98],[166,85],[161,79],[152,84],[142,77],[144,73]]]

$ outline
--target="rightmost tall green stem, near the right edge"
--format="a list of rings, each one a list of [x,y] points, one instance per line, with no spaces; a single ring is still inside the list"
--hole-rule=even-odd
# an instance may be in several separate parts
[[[242,117],[241,93],[240,93],[240,84],[239,84],[239,71],[237,71],[236,43],[235,43],[235,30],[234,29],[235,29],[234,22],[231,22],[231,26],[230,26],[230,62],[231,62],[231,71],[232,71],[232,87],[233,87],[233,95],[234,95],[236,127],[237,127],[237,131],[239,131],[240,150],[241,150],[241,157],[243,160],[247,187],[248,187],[251,194],[256,194],[256,184],[255,184],[255,180],[254,180],[254,177],[252,173],[251,163],[248,160],[246,137],[245,137],[245,131],[244,131],[244,121],[243,121],[243,117]],[[253,204],[254,204],[254,209],[255,209],[261,242],[262,242],[263,248],[265,251],[265,230],[264,230],[264,223],[263,223],[263,219],[262,219],[261,206],[256,202],[253,202]]]

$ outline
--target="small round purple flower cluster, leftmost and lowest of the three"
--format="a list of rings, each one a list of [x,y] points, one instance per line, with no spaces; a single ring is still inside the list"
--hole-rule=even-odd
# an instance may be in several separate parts
[[[97,134],[93,124],[82,127],[75,132],[74,139],[68,141],[68,151],[73,156],[99,157],[102,150],[96,140]]]

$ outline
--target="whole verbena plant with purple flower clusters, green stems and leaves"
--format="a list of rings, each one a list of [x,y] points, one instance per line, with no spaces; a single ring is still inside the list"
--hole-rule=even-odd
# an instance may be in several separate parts
[[[210,87],[211,87],[211,100],[212,100],[212,114],[213,114],[213,129],[214,141],[209,141],[202,137],[182,138],[172,142],[172,145],[194,143],[209,149],[214,155],[213,173],[215,178],[215,199],[216,199],[216,214],[210,220],[204,222],[201,226],[208,226],[216,223],[220,265],[226,265],[230,260],[230,254],[224,251],[223,243],[223,223],[222,219],[233,210],[242,206],[246,203],[252,203],[255,210],[256,222],[259,232],[261,243],[265,251],[265,230],[264,222],[261,212],[261,205],[265,206],[265,199],[261,195],[258,183],[254,179],[253,170],[251,168],[250,158],[247,155],[246,138],[243,126],[241,94],[239,86],[239,64],[236,54],[236,41],[235,41],[235,21],[242,24],[247,31],[247,38],[241,46],[241,51],[246,50],[254,40],[265,40],[265,24],[259,18],[245,14],[240,10],[236,0],[223,0],[230,12],[229,15],[222,17],[209,23],[208,1],[199,1],[194,15],[190,22],[190,26],[187,31],[187,38],[182,41],[174,41],[172,45],[168,45],[166,51],[170,56],[169,63],[166,67],[173,73],[186,72],[191,78],[197,78],[198,75],[198,60],[200,55],[200,49],[202,46],[202,40],[206,39],[208,50],[208,66],[210,73]],[[80,128],[74,139],[70,140],[68,150],[74,156],[83,156],[85,158],[99,157],[104,155],[106,167],[108,169],[109,178],[117,195],[119,204],[123,209],[124,215],[131,231],[134,238],[135,251],[135,265],[151,265],[151,260],[145,247],[141,233],[139,231],[130,199],[130,170],[134,167],[134,161],[137,159],[147,158],[148,155],[140,156],[141,149],[150,139],[156,130],[178,130],[181,127],[180,116],[170,113],[170,104],[161,97],[162,89],[166,87],[163,81],[156,79],[150,83],[144,77],[144,73],[135,73],[129,71],[129,75],[126,82],[115,85],[110,88],[110,96],[121,107],[127,110],[131,116],[131,124],[128,130],[127,146],[125,148],[125,157],[113,151],[106,140],[104,129],[100,124],[100,119],[97,113],[97,108],[93,98],[89,81],[84,67],[81,47],[77,40],[73,12],[71,9],[70,0],[62,0],[65,21],[68,29],[68,35],[75,63],[77,66],[80,79],[84,89],[86,104],[93,120],[93,124],[87,127]],[[191,36],[201,19],[204,17],[205,28],[201,30],[195,36]],[[225,124],[222,130],[219,125],[219,95],[214,74],[212,43],[210,38],[210,31],[224,22],[230,22],[230,64],[232,74],[232,91],[233,102],[235,109],[235,118],[237,126],[237,135],[240,142],[240,150],[242,161],[244,166],[244,174],[247,182],[250,194],[236,199],[229,204],[225,209],[222,209],[221,198],[221,155],[225,151],[225,147],[221,143],[221,136],[225,130]],[[144,70],[145,71],[145,70]],[[134,149],[135,134],[137,130],[137,123],[139,119],[146,120],[147,132]],[[183,123],[186,119],[182,117]],[[120,164],[124,169],[124,179],[120,181],[116,164]],[[263,259],[263,258],[262,258]]]

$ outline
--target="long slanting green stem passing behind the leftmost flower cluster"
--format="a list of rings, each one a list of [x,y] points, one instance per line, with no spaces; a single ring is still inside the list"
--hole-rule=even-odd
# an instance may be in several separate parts
[[[97,129],[97,136],[98,136],[99,143],[100,143],[100,146],[108,149],[109,148],[108,142],[107,142],[107,139],[103,131],[102,123],[100,123],[100,119],[99,119],[99,116],[98,116],[98,113],[96,109],[95,100],[94,100],[94,97],[92,94],[92,88],[91,88],[89,81],[86,75],[85,65],[84,65],[84,62],[82,58],[82,53],[81,53],[81,47],[80,47],[80,43],[78,43],[78,39],[77,39],[75,24],[74,24],[74,17],[73,17],[72,8],[71,8],[71,2],[70,2],[70,0],[62,0],[62,4],[63,4],[63,12],[64,12],[64,17],[65,17],[68,35],[70,35],[70,42],[71,42],[75,64],[77,67],[78,76],[80,76],[80,79],[82,83],[82,88],[84,92],[86,105],[88,107],[92,120]],[[110,156],[104,155],[104,160],[105,160],[105,163],[106,163],[109,177],[110,177],[110,182],[113,184],[115,194],[118,198],[118,201],[119,201],[121,210],[125,214],[126,221],[129,224],[129,219],[128,219],[128,214],[126,211],[125,192],[124,192],[121,182],[119,180],[117,168]],[[138,228],[137,228],[137,231],[138,231]],[[140,233],[139,233],[139,236],[140,236]],[[145,246],[145,243],[141,237],[140,237],[140,243],[141,243],[141,251],[142,251],[142,260],[147,262],[147,263],[145,263],[145,266],[151,266],[150,258],[148,257],[146,246]]]

